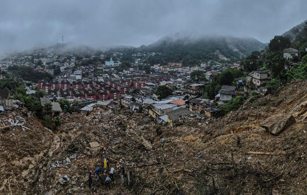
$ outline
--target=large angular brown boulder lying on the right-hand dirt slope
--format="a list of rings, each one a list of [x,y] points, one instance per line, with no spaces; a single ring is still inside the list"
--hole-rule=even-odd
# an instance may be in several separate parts
[[[267,118],[260,126],[265,128],[269,133],[277,136],[295,122],[291,114],[280,113]]]

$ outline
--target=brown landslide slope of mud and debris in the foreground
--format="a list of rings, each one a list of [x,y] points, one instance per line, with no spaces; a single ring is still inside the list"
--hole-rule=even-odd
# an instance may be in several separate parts
[[[280,117],[283,113],[285,117]],[[287,123],[287,114],[295,120]],[[164,143],[156,134],[157,124],[128,110],[96,109],[88,117],[63,114],[54,133],[21,110],[2,113],[0,125],[9,125],[7,119],[14,117],[23,117],[30,129],[1,128],[0,194],[300,195],[307,191],[306,81],[289,83],[278,97],[249,99],[221,119],[186,119],[175,128],[161,127]],[[269,125],[280,128],[278,135],[264,128],[269,117]],[[91,142],[99,146],[91,148]],[[101,166],[104,156],[110,166],[122,159],[130,184],[126,176],[121,185],[115,174],[111,189],[99,181],[89,189],[87,173]],[[65,175],[69,180],[59,182]]]

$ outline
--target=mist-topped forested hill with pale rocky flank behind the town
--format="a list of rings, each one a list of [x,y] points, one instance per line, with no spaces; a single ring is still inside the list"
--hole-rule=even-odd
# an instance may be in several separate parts
[[[218,55],[228,59],[241,59],[251,51],[261,50],[266,45],[253,38],[206,37],[164,37],[153,44],[141,47],[142,51],[160,53],[147,59],[150,64],[181,62],[194,65],[203,61],[218,60]]]

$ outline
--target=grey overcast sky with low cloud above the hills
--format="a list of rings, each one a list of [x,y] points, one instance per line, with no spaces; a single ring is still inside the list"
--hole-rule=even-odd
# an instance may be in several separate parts
[[[307,0],[1,0],[0,53],[74,42],[140,46],[165,35],[269,42],[307,20]]]

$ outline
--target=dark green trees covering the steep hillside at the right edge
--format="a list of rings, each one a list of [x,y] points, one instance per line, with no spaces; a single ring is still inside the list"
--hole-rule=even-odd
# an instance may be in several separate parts
[[[299,50],[299,56],[285,59],[283,50],[286,48]],[[276,91],[281,85],[292,79],[307,79],[307,20],[293,27],[282,36],[275,36],[268,47],[261,51],[252,52],[242,60],[245,71],[269,70],[271,81],[267,83],[269,92]],[[299,62],[289,65],[290,61]]]

